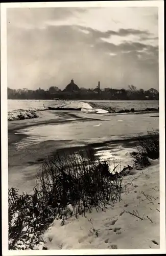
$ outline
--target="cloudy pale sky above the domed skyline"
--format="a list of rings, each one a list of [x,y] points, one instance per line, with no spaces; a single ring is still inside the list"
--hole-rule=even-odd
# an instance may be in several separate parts
[[[8,87],[158,90],[158,8],[8,8]]]

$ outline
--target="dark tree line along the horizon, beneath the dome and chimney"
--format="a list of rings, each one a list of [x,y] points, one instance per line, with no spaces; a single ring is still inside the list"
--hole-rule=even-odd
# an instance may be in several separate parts
[[[128,89],[104,90],[80,88],[75,91],[61,91],[57,87],[50,87],[49,90],[28,90],[8,88],[8,99],[105,99],[105,100],[153,100],[159,99],[159,92],[151,88],[149,90],[137,89],[132,84]]]

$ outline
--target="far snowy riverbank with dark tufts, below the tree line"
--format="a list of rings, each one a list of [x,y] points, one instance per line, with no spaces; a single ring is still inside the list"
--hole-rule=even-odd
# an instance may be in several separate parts
[[[153,106],[154,105],[154,106]],[[151,101],[79,101],[79,100],[15,100],[8,106],[8,121],[39,117],[42,111],[54,108],[81,108],[83,113],[96,114],[142,114],[159,112],[158,103]]]

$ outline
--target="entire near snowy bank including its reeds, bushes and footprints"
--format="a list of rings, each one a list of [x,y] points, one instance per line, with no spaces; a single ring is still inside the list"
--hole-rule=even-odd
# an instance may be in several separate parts
[[[140,140],[137,151],[121,173],[92,148],[45,159],[34,194],[9,189],[9,248],[159,248],[159,138]]]

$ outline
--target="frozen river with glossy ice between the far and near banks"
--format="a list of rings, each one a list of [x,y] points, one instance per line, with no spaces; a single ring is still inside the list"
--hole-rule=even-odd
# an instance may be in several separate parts
[[[8,122],[9,187],[30,191],[42,160],[56,152],[84,150],[91,145],[96,156],[122,166],[131,161],[127,152],[134,138],[158,131],[158,113],[97,114],[84,112],[39,112],[39,118]]]

